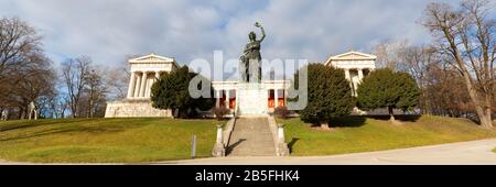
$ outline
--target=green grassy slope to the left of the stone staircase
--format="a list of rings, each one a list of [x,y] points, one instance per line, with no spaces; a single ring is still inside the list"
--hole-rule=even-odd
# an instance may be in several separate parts
[[[0,122],[0,158],[23,162],[152,162],[211,156],[214,120],[64,119]]]

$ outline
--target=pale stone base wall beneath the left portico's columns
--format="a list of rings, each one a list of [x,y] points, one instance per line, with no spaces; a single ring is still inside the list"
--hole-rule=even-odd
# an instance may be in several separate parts
[[[150,100],[122,100],[107,102],[105,118],[162,118],[172,117],[171,110],[159,110]]]

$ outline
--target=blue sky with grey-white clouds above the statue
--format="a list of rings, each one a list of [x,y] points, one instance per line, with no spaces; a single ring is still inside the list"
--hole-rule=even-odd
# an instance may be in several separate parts
[[[266,58],[323,62],[349,50],[373,53],[386,40],[427,43],[418,20],[432,0],[0,0],[0,16],[19,16],[44,36],[56,63],[89,55],[105,65],[157,53],[181,64],[238,58],[261,21]],[[255,30],[258,32],[258,30]]]

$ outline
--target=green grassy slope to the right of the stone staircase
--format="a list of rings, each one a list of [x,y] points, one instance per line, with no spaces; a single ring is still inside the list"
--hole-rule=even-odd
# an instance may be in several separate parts
[[[292,155],[332,155],[496,138],[464,119],[422,116],[403,119],[402,125],[385,119],[348,117],[335,121],[333,132],[312,129],[300,119],[278,120],[285,125]]]

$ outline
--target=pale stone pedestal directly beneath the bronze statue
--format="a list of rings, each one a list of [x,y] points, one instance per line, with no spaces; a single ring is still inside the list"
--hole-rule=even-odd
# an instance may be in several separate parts
[[[238,116],[267,116],[269,94],[262,84],[240,82],[237,90]]]

